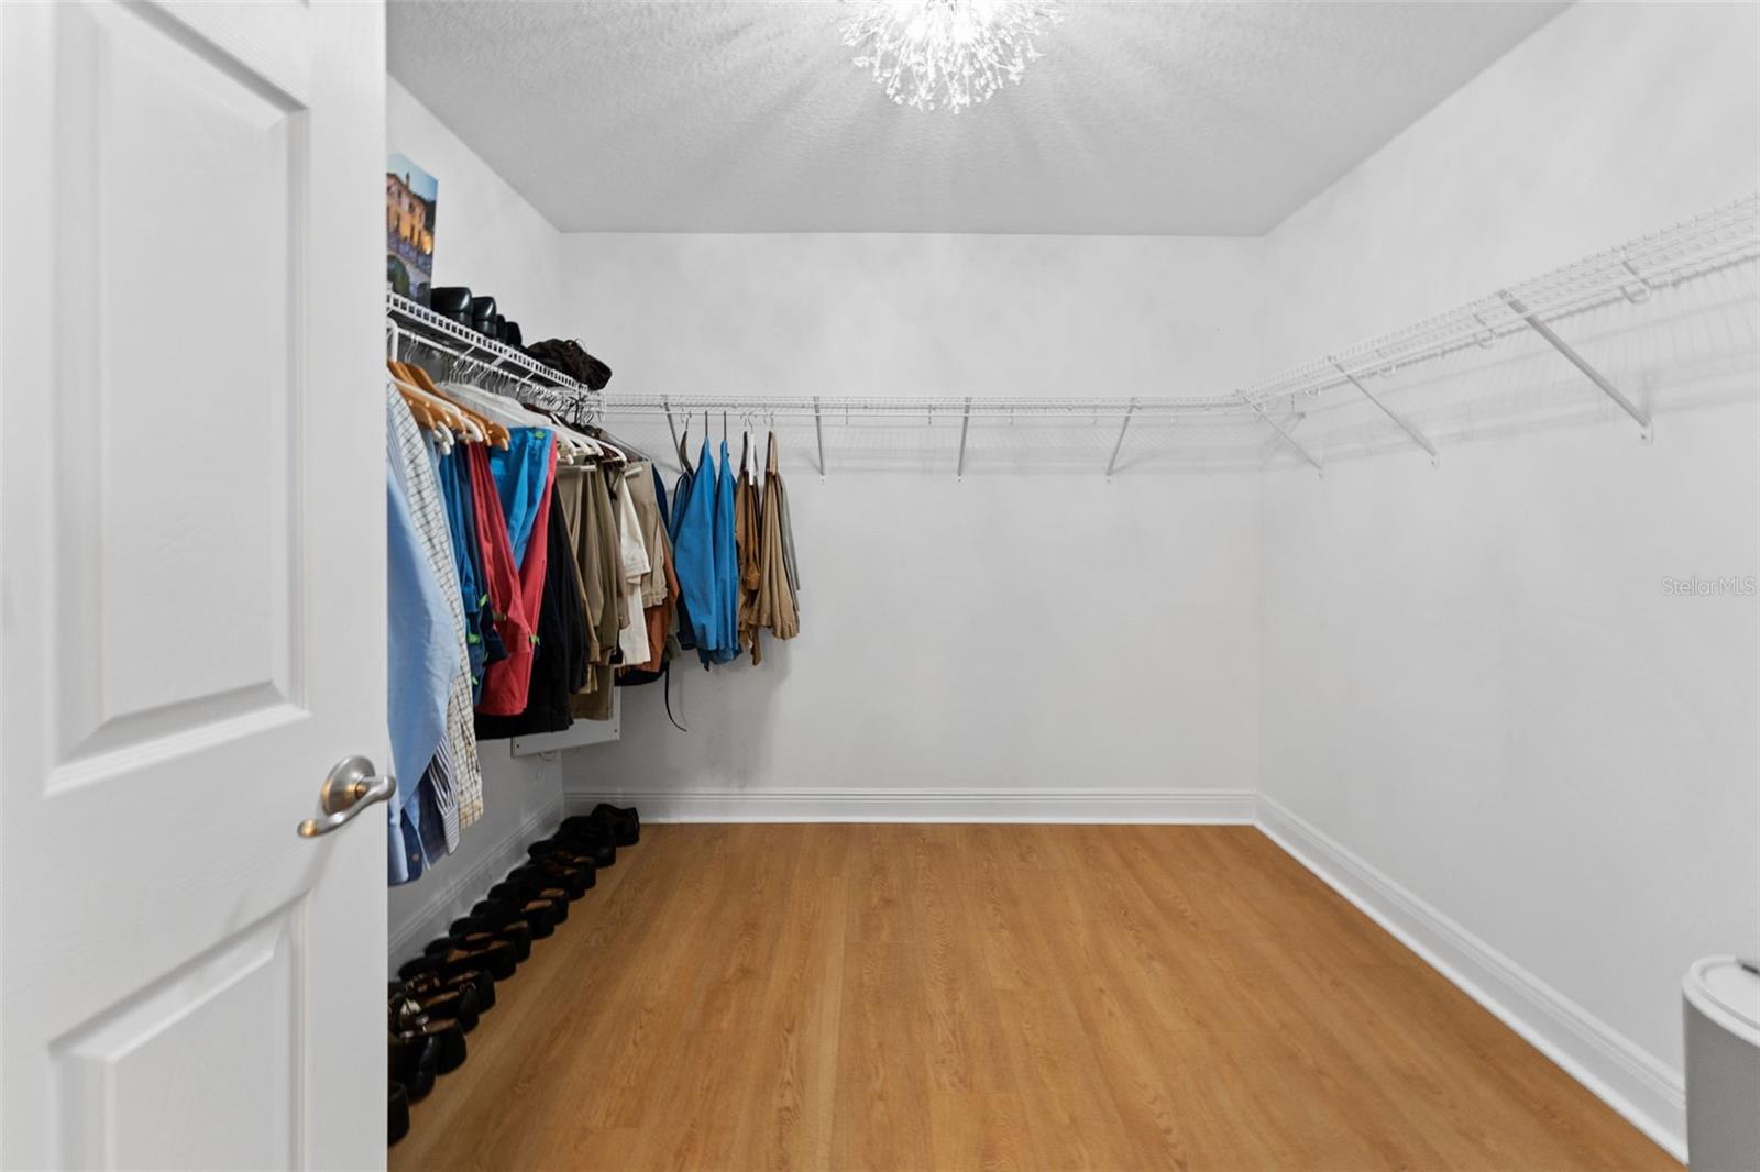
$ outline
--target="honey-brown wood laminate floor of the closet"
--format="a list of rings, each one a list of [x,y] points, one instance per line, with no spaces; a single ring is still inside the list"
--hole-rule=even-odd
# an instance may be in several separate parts
[[[1679,1167],[1251,827],[656,825],[429,1168]]]

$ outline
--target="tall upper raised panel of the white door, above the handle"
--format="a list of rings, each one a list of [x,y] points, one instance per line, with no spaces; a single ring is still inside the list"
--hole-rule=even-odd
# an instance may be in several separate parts
[[[181,25],[107,5],[58,25],[53,537],[76,590],[56,644],[84,656],[51,662],[51,785],[104,776],[93,757],[130,769],[201,744],[222,720],[297,716],[292,308],[310,183],[294,100]],[[180,377],[197,364],[238,377]],[[165,452],[202,435],[224,440],[162,475]],[[218,572],[215,551],[229,551]],[[188,616],[202,655],[187,653]]]

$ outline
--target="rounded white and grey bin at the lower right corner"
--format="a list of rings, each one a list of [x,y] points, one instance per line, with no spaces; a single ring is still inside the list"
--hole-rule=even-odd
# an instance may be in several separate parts
[[[1760,1170],[1760,964],[1707,956],[1686,1003],[1686,1158],[1693,1172]]]

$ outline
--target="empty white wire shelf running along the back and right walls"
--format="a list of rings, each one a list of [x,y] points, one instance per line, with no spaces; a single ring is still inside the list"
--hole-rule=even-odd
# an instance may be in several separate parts
[[[1477,297],[1447,313],[1404,329],[1343,347],[1264,382],[1227,394],[1209,396],[766,396],[766,394],[609,394],[611,414],[685,417],[699,412],[783,417],[806,415],[815,422],[850,415],[891,417],[935,424],[973,417],[1067,415],[1072,419],[1121,419],[1119,442],[1132,419],[1258,419],[1302,459],[1320,468],[1274,417],[1302,396],[1353,387],[1387,414],[1434,459],[1434,445],[1364,380],[1448,355],[1491,348],[1514,334],[1538,334],[1559,350],[1589,382],[1612,398],[1649,436],[1649,417],[1610,380],[1596,371],[1552,326],[1602,306],[1644,303],[1653,294],[1760,259],[1760,194],[1744,195],[1688,220],[1670,223],[1607,252],[1584,257],[1542,276]],[[961,447],[964,447],[961,443]],[[961,459],[963,463],[963,459]],[[1116,463],[1116,449],[1114,449]],[[824,454],[820,452],[820,466]],[[1109,466],[1111,475],[1111,466]]]

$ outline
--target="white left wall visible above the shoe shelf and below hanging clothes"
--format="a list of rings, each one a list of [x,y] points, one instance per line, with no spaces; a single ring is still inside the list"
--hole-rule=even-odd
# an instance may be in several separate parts
[[[556,229],[389,77],[385,123],[387,153],[403,153],[440,181],[435,283],[491,294],[530,340],[561,333]],[[484,743],[480,755],[484,817],[445,862],[391,889],[392,964],[468,912],[561,811],[554,758],[514,758],[505,741]]]

